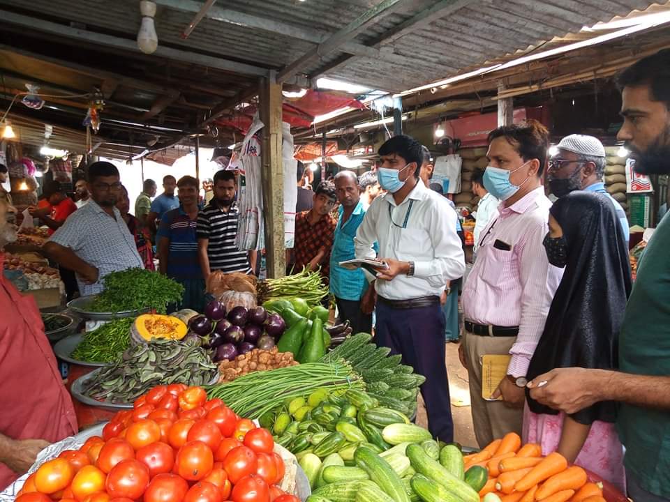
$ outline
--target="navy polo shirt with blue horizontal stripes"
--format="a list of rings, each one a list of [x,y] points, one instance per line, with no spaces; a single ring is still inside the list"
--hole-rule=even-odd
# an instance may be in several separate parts
[[[170,241],[168,254],[168,277],[174,279],[188,279],[200,277],[200,263],[198,262],[198,238],[196,236],[196,220],[191,220],[179,206],[163,215],[161,226],[156,236],[167,238]]]

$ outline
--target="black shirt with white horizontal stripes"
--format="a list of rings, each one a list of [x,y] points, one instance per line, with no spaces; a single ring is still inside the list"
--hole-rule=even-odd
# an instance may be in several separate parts
[[[235,244],[239,209],[232,204],[226,213],[211,201],[198,214],[198,239],[208,239],[209,269],[223,273],[251,273],[248,254]]]

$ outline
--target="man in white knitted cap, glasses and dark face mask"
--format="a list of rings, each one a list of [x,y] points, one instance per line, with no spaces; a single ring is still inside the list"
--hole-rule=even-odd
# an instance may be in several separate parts
[[[606,165],[605,147],[600,139],[586,135],[566,136],[558,144],[558,153],[549,160],[546,172],[549,190],[559,199],[574,190],[602,193],[608,197],[614,205],[627,244],[630,228],[626,212],[605,190],[602,181]]]

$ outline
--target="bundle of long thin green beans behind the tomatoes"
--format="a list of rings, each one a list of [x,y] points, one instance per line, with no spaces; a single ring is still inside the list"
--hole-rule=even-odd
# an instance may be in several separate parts
[[[299,397],[320,387],[362,390],[364,383],[350,365],[339,360],[249,373],[232,382],[207,387],[207,395],[223,400],[239,416],[260,418],[289,397]]]

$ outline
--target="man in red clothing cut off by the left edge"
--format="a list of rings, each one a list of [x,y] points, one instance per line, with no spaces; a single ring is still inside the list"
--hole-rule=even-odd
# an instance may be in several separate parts
[[[2,248],[16,240],[15,208],[0,197]],[[37,454],[77,432],[72,401],[32,296],[0,274],[0,491],[28,471]],[[36,413],[39,410],[39,413]]]

